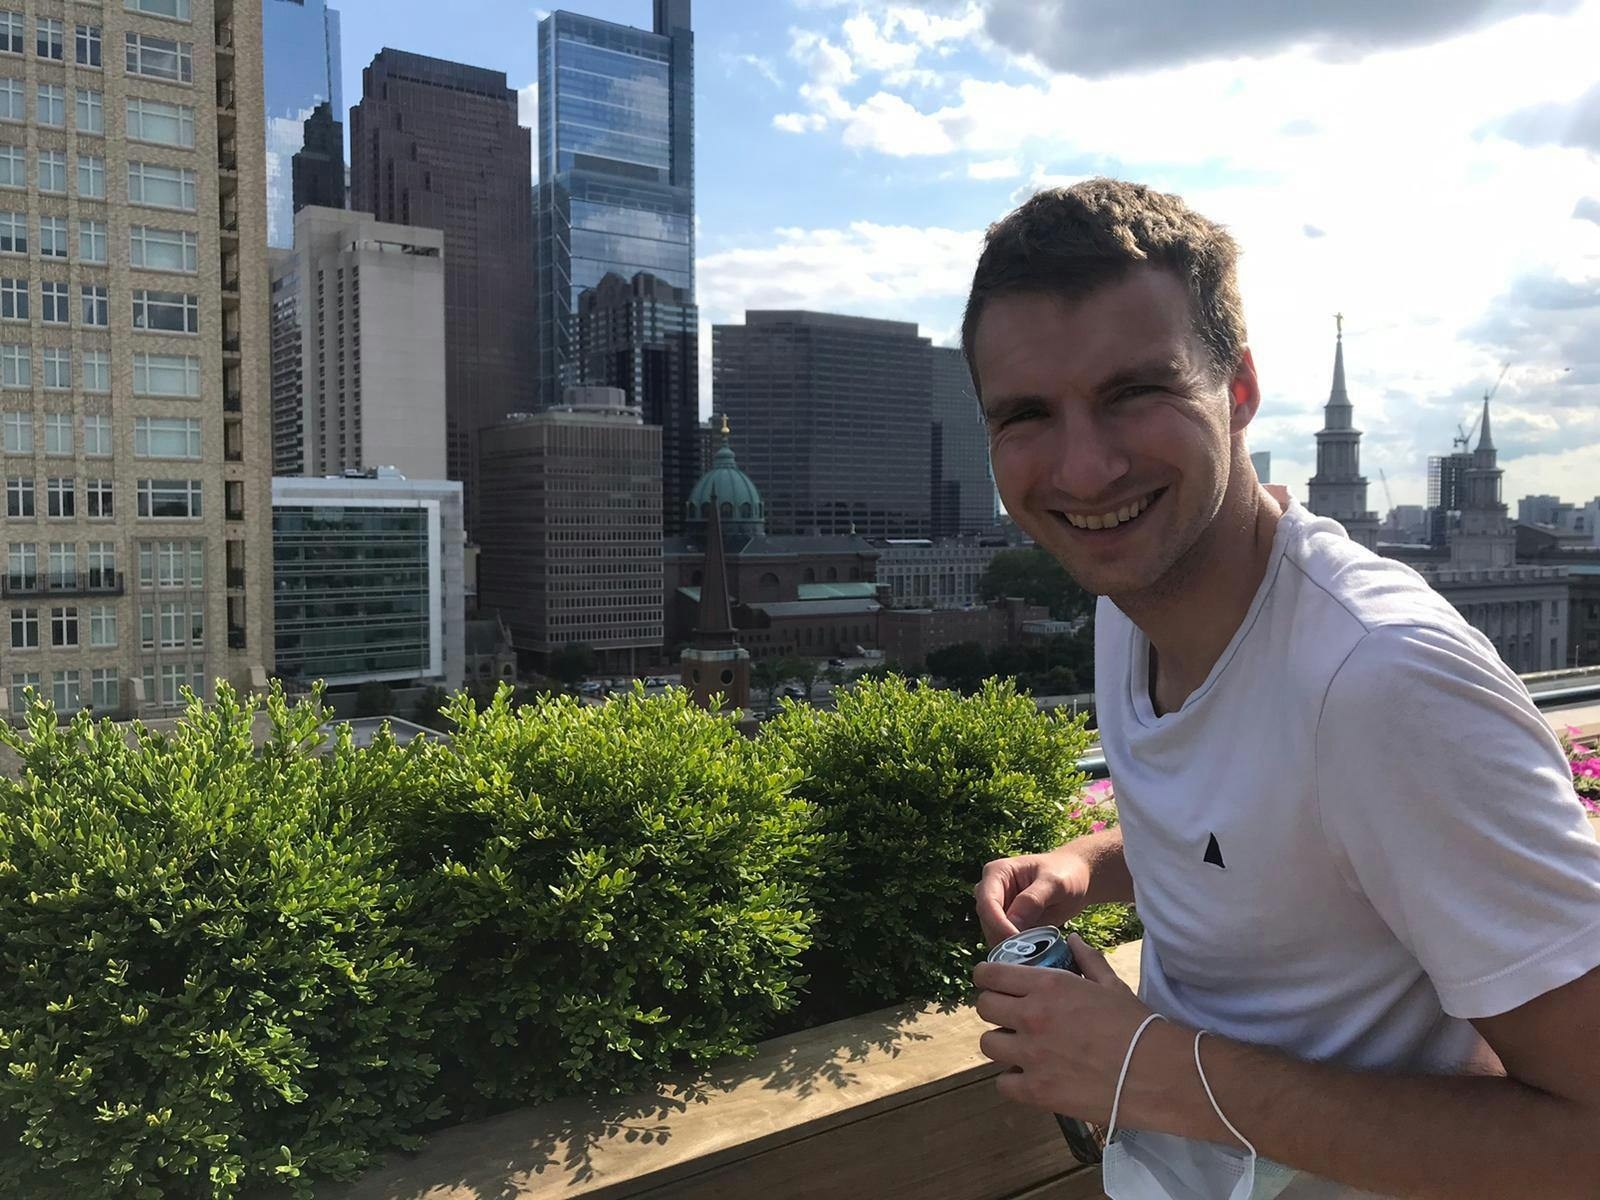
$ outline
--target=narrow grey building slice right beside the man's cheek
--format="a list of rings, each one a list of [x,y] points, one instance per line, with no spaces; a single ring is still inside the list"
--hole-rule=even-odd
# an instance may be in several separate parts
[[[960,347],[933,355],[933,536],[982,533],[995,523],[995,482],[989,474],[989,434]]]

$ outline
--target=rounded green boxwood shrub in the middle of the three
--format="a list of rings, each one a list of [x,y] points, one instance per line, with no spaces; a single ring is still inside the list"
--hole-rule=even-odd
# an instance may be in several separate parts
[[[382,821],[456,1112],[642,1088],[797,1002],[818,835],[794,770],[682,690],[445,715]]]

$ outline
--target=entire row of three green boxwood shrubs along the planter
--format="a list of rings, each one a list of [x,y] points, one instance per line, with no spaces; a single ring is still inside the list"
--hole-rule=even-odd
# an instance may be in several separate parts
[[[219,686],[170,736],[0,728],[0,1195],[309,1197],[446,1120],[960,998],[984,861],[1110,819],[1082,723],[1005,685],[754,741],[682,690],[443,715],[357,749]]]

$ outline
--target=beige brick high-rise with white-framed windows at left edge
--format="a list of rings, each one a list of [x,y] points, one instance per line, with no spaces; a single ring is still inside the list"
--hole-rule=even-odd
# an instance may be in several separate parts
[[[272,669],[261,0],[0,0],[0,686]]]

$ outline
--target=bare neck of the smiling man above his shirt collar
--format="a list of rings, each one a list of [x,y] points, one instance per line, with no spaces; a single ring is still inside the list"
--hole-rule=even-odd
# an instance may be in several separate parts
[[[1234,640],[1267,573],[1282,512],[1259,486],[1227,501],[1181,579],[1114,603],[1150,642],[1150,701],[1178,709]]]

